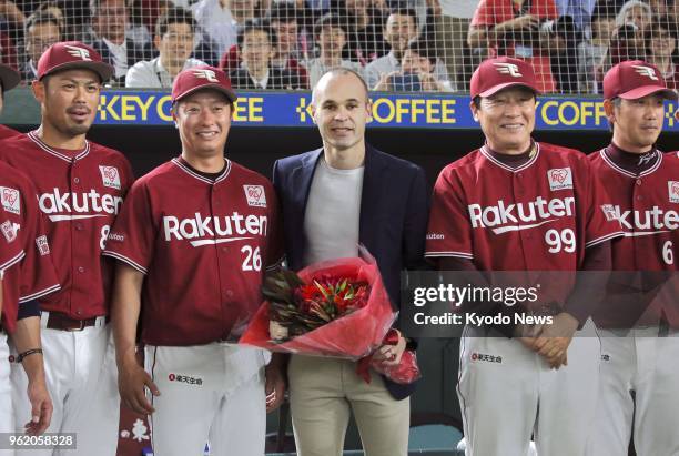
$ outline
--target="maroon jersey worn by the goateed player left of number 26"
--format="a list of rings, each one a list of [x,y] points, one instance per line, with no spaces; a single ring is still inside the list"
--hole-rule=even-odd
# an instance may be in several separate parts
[[[57,150],[36,132],[3,141],[0,160],[29,176],[48,220],[61,290],[42,297],[41,308],[77,320],[105,315],[111,271],[101,252],[132,183],[128,160],[89,141],[82,151]]]

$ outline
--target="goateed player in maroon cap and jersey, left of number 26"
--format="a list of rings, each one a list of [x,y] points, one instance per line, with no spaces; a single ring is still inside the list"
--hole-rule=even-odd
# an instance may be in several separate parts
[[[107,359],[110,268],[102,263],[109,229],[132,183],[118,151],[87,140],[101,84],[113,69],[77,41],[51,45],[32,89],[41,124],[7,140],[0,160],[26,173],[49,219],[47,241],[61,290],[39,298],[48,388],[54,404],[48,432],[77,433],[73,455],[114,455],[120,399]],[[107,357],[107,355],[109,357]],[[27,377],[12,366],[17,426],[30,416]],[[85,432],[87,429],[87,432]],[[51,450],[32,450],[51,454]]]

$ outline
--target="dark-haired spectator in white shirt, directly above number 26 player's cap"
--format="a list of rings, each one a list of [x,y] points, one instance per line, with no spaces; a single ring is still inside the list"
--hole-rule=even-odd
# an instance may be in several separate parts
[[[129,88],[172,88],[174,78],[184,69],[204,65],[190,58],[195,38],[195,21],[191,11],[171,8],[158,19],[153,44],[160,55],[136,62],[125,78]]]

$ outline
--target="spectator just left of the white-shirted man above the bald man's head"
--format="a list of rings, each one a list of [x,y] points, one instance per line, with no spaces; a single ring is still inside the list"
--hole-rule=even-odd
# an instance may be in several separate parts
[[[272,68],[296,74],[296,85],[308,87],[306,69],[300,63],[308,58],[306,40],[300,42],[297,9],[292,3],[275,3],[267,16],[278,43],[271,60]]]

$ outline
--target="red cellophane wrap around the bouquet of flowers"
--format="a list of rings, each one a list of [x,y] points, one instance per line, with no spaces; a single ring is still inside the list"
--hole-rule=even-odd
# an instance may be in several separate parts
[[[371,287],[367,304],[308,333],[275,343],[268,334],[268,303],[264,302],[239,341],[240,344],[272,352],[354,361],[367,356],[382,345],[384,336],[394,323],[395,314],[376,264],[362,259],[340,259],[316,263],[300,271],[297,275],[306,283],[323,275],[356,276],[367,282]]]

